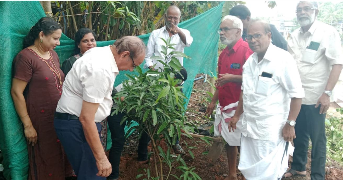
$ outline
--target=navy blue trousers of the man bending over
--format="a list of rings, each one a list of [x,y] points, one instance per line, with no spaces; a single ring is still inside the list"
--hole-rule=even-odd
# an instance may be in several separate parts
[[[101,125],[100,123],[95,124],[100,139]],[[106,178],[96,175],[98,173],[96,161],[91,147],[86,141],[80,121],[55,118],[54,126],[78,180],[106,180]]]

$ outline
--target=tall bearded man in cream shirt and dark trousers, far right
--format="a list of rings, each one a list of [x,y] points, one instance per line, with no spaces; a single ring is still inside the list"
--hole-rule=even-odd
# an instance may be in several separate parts
[[[325,116],[342,70],[342,47],[335,28],[316,20],[318,4],[300,1],[297,4],[296,29],[288,41],[288,51],[297,62],[305,90],[296,119],[292,167],[283,179],[306,176],[307,150],[311,138],[311,180],[324,180],[326,162]]]

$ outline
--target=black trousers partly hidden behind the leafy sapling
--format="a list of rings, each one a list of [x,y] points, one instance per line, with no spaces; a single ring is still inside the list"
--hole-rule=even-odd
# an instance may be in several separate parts
[[[121,118],[125,116],[125,113],[118,113],[118,115],[108,116],[107,123],[109,130],[111,132],[111,139],[112,139],[112,146],[109,150],[109,162],[112,165],[112,173],[108,177],[109,179],[117,179],[119,177],[119,163],[120,163],[120,155],[121,151],[124,148],[125,143],[125,131],[124,127],[126,122],[120,125]],[[150,141],[150,137],[143,133],[141,138],[139,139],[138,145],[138,161],[145,161],[147,160],[148,155],[148,143]]]

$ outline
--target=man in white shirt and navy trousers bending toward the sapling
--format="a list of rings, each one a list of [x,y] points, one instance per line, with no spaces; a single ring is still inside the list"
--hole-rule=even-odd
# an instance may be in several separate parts
[[[54,126],[78,179],[105,180],[111,164],[100,143],[100,121],[109,114],[119,70],[132,71],[145,56],[141,39],[125,36],[113,46],[88,50],[63,83]]]

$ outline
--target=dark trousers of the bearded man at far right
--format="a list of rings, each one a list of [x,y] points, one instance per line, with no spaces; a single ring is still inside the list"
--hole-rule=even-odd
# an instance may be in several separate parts
[[[296,120],[292,169],[305,171],[309,138],[311,150],[311,180],[324,180],[326,163],[325,115],[319,114],[320,106],[301,105]]]

